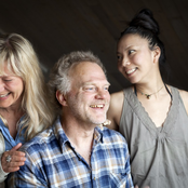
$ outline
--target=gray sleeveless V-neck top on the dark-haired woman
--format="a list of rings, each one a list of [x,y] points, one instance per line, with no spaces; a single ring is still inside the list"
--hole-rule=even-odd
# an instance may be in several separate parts
[[[156,127],[132,88],[124,90],[120,132],[127,140],[134,185],[188,187],[188,116],[177,89],[162,129]]]

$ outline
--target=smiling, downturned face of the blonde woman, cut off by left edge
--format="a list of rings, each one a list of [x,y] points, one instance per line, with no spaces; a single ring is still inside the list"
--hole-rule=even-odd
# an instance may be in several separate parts
[[[4,68],[4,72],[0,76],[0,108],[17,109],[21,107],[23,97],[23,79],[6,68]]]

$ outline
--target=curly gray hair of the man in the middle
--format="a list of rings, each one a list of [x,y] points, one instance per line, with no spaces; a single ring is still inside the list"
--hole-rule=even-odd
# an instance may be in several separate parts
[[[51,75],[50,75],[50,81],[49,81],[49,88],[51,92],[51,98],[55,100],[55,103],[58,105],[58,107],[62,107],[56,99],[56,91],[59,91],[63,94],[66,94],[70,91],[70,78],[68,76],[69,70],[72,68],[73,65],[83,63],[83,62],[91,62],[94,64],[97,64],[105,72],[106,69],[104,65],[102,64],[100,59],[94,55],[91,51],[75,51],[69,54],[64,55],[58,59],[58,62],[53,67]]]

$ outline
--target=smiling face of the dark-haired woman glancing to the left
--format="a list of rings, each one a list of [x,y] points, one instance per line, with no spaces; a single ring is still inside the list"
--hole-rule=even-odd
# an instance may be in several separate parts
[[[147,82],[155,71],[155,51],[148,45],[147,39],[133,33],[118,42],[118,69],[131,83]]]

